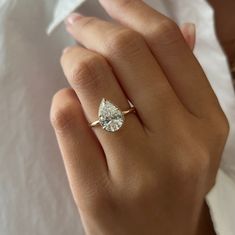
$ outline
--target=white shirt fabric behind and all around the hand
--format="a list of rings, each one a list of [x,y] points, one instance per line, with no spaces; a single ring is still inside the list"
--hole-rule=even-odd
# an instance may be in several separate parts
[[[84,1],[0,0],[2,235],[83,234],[49,109],[53,94],[67,86],[59,57],[62,49],[73,43],[60,23],[82,3],[81,13],[110,19],[96,0]],[[235,97],[226,58],[215,36],[213,11],[204,0],[146,2],[179,24],[197,25],[195,54],[231,125],[216,185],[207,202],[217,234],[234,235]]]

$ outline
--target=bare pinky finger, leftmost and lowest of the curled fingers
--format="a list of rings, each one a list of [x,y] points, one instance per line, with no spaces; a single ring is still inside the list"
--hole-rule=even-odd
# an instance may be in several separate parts
[[[79,209],[91,200],[107,180],[103,150],[88,126],[81,104],[72,89],[53,98],[51,122],[62,153],[74,200]]]

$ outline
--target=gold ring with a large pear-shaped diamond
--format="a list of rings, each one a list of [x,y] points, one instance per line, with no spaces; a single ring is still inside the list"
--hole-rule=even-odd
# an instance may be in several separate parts
[[[100,125],[104,130],[109,132],[118,131],[125,120],[125,115],[131,112],[135,112],[135,108],[132,107],[126,111],[121,111],[111,101],[102,99],[99,107],[98,117],[95,122],[90,123],[91,127]]]

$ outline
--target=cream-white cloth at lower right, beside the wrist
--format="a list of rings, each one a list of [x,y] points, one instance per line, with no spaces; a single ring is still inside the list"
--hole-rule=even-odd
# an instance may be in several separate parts
[[[206,197],[217,235],[235,234],[235,182],[219,170],[215,186]]]

